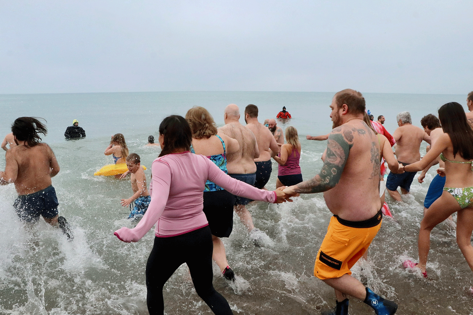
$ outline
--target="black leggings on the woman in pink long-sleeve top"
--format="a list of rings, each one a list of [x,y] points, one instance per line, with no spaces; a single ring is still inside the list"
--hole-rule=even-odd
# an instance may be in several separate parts
[[[183,263],[189,267],[195,291],[212,312],[233,314],[225,297],[213,288],[212,251],[208,226],[183,235],[155,237],[146,264],[146,303],[150,315],[164,314],[164,284]]]

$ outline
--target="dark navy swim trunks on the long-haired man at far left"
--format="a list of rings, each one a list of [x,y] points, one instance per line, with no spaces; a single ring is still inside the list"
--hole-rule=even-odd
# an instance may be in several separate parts
[[[28,223],[36,223],[40,216],[53,219],[58,215],[58,198],[53,186],[36,193],[20,195],[13,203],[18,217]]]

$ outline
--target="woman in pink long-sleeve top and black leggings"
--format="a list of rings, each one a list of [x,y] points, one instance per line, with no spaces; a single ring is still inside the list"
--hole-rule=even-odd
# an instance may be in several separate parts
[[[146,264],[149,314],[164,314],[163,286],[186,263],[197,294],[214,314],[232,314],[227,300],[212,285],[212,237],[203,208],[205,182],[254,200],[283,202],[281,190],[268,192],[231,178],[207,157],[189,152],[192,132],[177,115],[159,125],[161,154],[151,166],[151,202],[135,228],[115,235],[123,242],[138,242],[155,227],[154,246]]]

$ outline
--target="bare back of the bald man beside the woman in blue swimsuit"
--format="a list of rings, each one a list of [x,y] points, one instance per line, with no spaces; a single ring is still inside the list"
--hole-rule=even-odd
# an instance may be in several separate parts
[[[256,172],[253,159],[259,157],[259,149],[253,132],[238,121],[228,122],[219,128],[220,132],[236,139],[240,145],[238,151],[227,155],[228,174],[253,174]]]

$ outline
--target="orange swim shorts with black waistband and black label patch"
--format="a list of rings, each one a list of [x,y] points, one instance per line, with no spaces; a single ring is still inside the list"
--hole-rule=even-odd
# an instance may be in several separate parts
[[[381,228],[381,210],[371,219],[347,221],[333,216],[315,260],[314,276],[324,280],[351,274],[350,268],[368,250]]]

